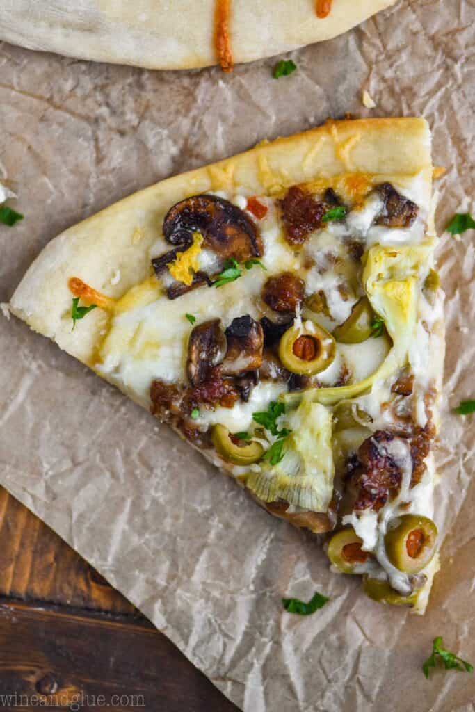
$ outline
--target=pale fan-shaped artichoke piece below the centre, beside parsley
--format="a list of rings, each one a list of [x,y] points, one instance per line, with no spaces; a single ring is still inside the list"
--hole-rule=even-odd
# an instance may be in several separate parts
[[[308,392],[310,393],[310,391]],[[314,512],[328,511],[333,493],[331,414],[306,395],[286,415],[291,429],[278,464],[263,462],[260,472],[249,473],[246,486],[265,502],[278,499]]]

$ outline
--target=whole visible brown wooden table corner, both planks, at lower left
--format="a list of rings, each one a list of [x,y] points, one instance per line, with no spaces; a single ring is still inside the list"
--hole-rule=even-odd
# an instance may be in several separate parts
[[[3,488],[0,573],[0,710],[48,709],[49,701],[60,710],[236,712],[132,604]]]

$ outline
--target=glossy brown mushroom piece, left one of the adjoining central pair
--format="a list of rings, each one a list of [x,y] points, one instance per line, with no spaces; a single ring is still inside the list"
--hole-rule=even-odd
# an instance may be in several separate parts
[[[194,387],[207,381],[213,367],[226,353],[226,336],[221,320],[212,319],[194,327],[189,335],[187,372]]]

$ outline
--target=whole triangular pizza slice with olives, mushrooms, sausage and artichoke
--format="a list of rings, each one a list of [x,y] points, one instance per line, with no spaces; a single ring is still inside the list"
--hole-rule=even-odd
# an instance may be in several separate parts
[[[11,299],[333,569],[424,612],[444,354],[419,118],[328,122],[142,190]]]

